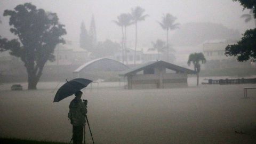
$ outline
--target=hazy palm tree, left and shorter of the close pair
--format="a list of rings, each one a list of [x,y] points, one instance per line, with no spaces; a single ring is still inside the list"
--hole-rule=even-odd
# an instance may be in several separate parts
[[[127,61],[127,54],[126,54],[126,27],[131,25],[131,14],[129,13],[122,13],[117,17],[117,21],[113,21],[116,23],[117,26],[120,26],[122,28],[122,60],[124,63],[124,53],[125,53],[125,60],[126,65],[128,64]]]

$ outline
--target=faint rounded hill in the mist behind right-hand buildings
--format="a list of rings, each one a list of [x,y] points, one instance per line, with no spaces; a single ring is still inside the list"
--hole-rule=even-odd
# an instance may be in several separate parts
[[[213,39],[239,39],[238,30],[210,22],[185,23],[171,36],[170,42],[179,46],[195,46]]]

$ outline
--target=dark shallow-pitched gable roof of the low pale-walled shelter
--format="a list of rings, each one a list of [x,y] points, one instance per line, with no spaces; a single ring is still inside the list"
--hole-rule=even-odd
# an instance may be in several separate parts
[[[131,69],[127,69],[125,71],[122,71],[119,74],[119,76],[127,76],[127,75],[134,74],[134,73],[137,73],[141,70],[147,69],[149,67],[154,67],[154,66],[163,66],[167,69],[171,69],[171,70],[174,70],[174,71],[179,71],[181,73],[196,74],[196,72],[194,70],[187,69],[187,68],[184,68],[184,67],[180,67],[180,66],[174,65],[172,63],[165,62],[165,61],[161,60],[161,61],[150,61],[150,62],[147,62],[143,65],[140,65],[140,66],[137,66],[137,67],[134,67],[134,68],[131,68]]]

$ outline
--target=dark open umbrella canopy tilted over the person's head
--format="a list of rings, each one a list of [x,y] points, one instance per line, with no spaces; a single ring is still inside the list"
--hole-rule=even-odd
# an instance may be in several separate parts
[[[70,95],[73,95],[75,92],[83,89],[88,84],[90,84],[92,81],[90,79],[85,78],[75,78],[71,81],[63,84],[60,89],[55,94],[53,102],[59,102],[62,99],[65,99],[69,97]]]

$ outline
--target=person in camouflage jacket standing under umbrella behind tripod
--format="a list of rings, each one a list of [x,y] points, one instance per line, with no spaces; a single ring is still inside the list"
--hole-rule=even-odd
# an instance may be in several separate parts
[[[82,144],[83,142],[83,127],[85,124],[85,115],[87,114],[87,103],[82,102],[83,92],[77,91],[75,98],[70,102],[68,118],[73,125],[73,143]]]

